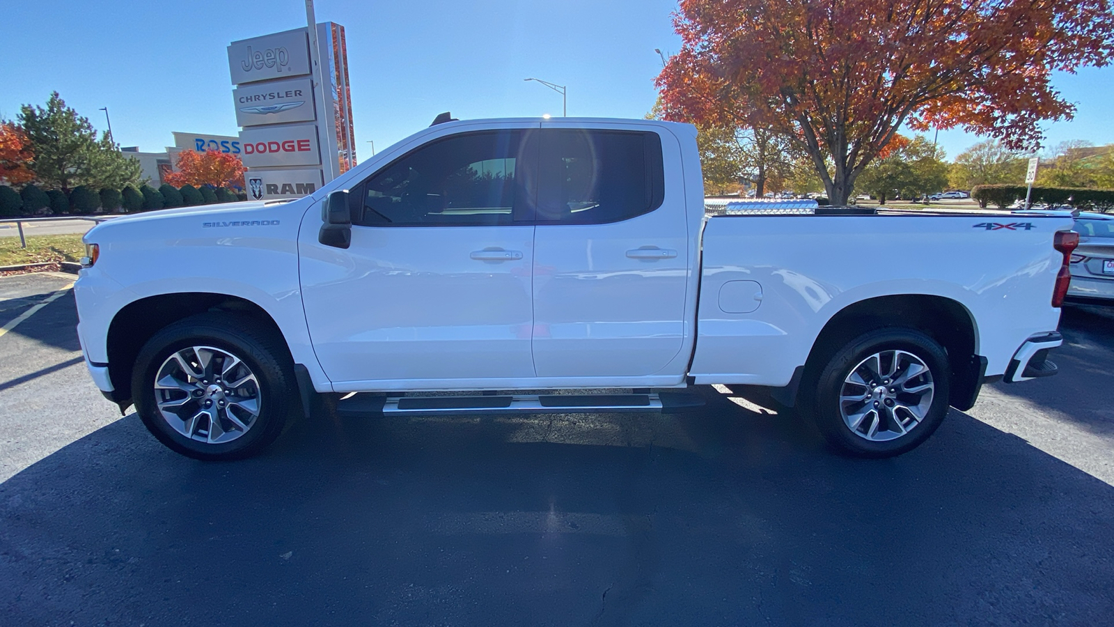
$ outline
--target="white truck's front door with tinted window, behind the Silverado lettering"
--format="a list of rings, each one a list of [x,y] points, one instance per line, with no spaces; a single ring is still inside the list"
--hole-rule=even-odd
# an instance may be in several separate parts
[[[528,134],[458,133],[380,168],[350,191],[346,250],[319,243],[306,214],[305,315],[338,390],[535,376]]]

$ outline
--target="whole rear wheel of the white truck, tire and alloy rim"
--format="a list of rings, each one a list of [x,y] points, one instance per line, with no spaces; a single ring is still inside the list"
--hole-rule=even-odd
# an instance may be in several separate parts
[[[908,328],[863,334],[832,355],[808,408],[838,448],[861,457],[911,451],[940,426],[949,405],[944,348]]]

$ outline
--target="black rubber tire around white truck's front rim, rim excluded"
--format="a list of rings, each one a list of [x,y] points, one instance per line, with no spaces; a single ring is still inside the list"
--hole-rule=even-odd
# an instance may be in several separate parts
[[[159,442],[188,457],[227,461],[260,453],[278,437],[291,414],[299,409],[293,363],[282,338],[261,329],[250,317],[224,312],[190,316],[159,330],[139,349],[133,369],[131,389],[139,418]],[[158,408],[155,377],[159,368],[176,351],[192,346],[227,350],[258,382],[258,415],[235,440],[208,443],[186,437]]]

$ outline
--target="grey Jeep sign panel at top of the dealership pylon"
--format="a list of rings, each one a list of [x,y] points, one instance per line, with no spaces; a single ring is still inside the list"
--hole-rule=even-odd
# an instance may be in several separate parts
[[[310,44],[305,29],[285,30],[228,46],[233,85],[310,74]]]

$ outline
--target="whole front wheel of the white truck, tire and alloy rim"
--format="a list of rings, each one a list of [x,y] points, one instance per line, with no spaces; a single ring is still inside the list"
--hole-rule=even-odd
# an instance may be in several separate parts
[[[131,389],[147,430],[197,460],[238,460],[270,445],[294,405],[284,347],[253,320],[202,314],[139,350]]]

